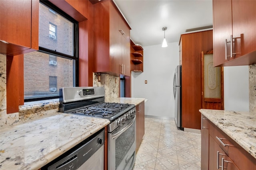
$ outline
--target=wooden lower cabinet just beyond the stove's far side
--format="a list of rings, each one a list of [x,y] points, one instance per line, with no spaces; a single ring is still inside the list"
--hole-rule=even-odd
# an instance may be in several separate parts
[[[145,133],[144,101],[136,106],[136,152]]]

